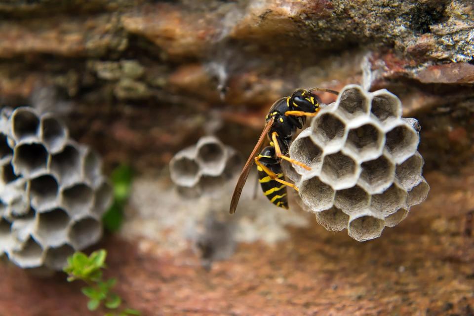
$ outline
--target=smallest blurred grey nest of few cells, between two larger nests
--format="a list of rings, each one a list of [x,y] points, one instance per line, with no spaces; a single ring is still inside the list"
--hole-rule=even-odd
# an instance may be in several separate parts
[[[241,158],[214,136],[204,136],[196,145],[178,152],[170,161],[171,180],[188,197],[213,194],[241,167]]]

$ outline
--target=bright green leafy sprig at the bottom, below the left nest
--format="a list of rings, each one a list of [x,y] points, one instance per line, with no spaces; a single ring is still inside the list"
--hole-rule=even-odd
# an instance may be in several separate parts
[[[122,304],[122,299],[117,294],[111,292],[117,279],[103,279],[102,269],[106,268],[105,259],[107,251],[100,249],[92,252],[88,257],[80,252],[75,252],[68,257],[68,265],[64,272],[68,274],[68,281],[82,280],[87,283],[83,287],[82,293],[89,298],[87,308],[90,311],[97,310],[102,303],[107,309],[117,310]],[[120,312],[110,312],[105,316],[137,316],[141,315],[139,311],[126,308]]]

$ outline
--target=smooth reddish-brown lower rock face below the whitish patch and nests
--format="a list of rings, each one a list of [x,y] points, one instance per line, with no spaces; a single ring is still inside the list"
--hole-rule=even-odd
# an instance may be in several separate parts
[[[315,224],[275,247],[241,245],[206,273],[191,251],[156,258],[108,237],[108,275],[144,315],[473,315],[473,168],[462,174],[428,175],[429,199],[369,242]],[[0,315],[88,315],[79,287],[0,265]]]

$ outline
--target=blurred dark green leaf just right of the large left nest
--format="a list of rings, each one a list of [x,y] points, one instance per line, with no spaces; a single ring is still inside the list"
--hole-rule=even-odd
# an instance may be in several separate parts
[[[110,180],[114,187],[114,203],[104,214],[104,227],[110,232],[117,232],[123,222],[123,208],[130,196],[133,172],[128,165],[119,165],[112,171]]]

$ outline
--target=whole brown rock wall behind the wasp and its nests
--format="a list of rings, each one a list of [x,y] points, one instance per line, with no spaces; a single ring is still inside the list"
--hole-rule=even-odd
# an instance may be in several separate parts
[[[0,1],[1,105],[53,112],[106,175],[133,170],[123,225],[88,249],[143,315],[473,315],[473,56],[471,0]],[[176,192],[168,163],[201,136],[244,160],[276,99],[352,83],[422,128],[430,194],[381,237],[253,200],[253,175],[235,217],[235,179]],[[0,315],[87,315],[79,288],[5,260]]]

